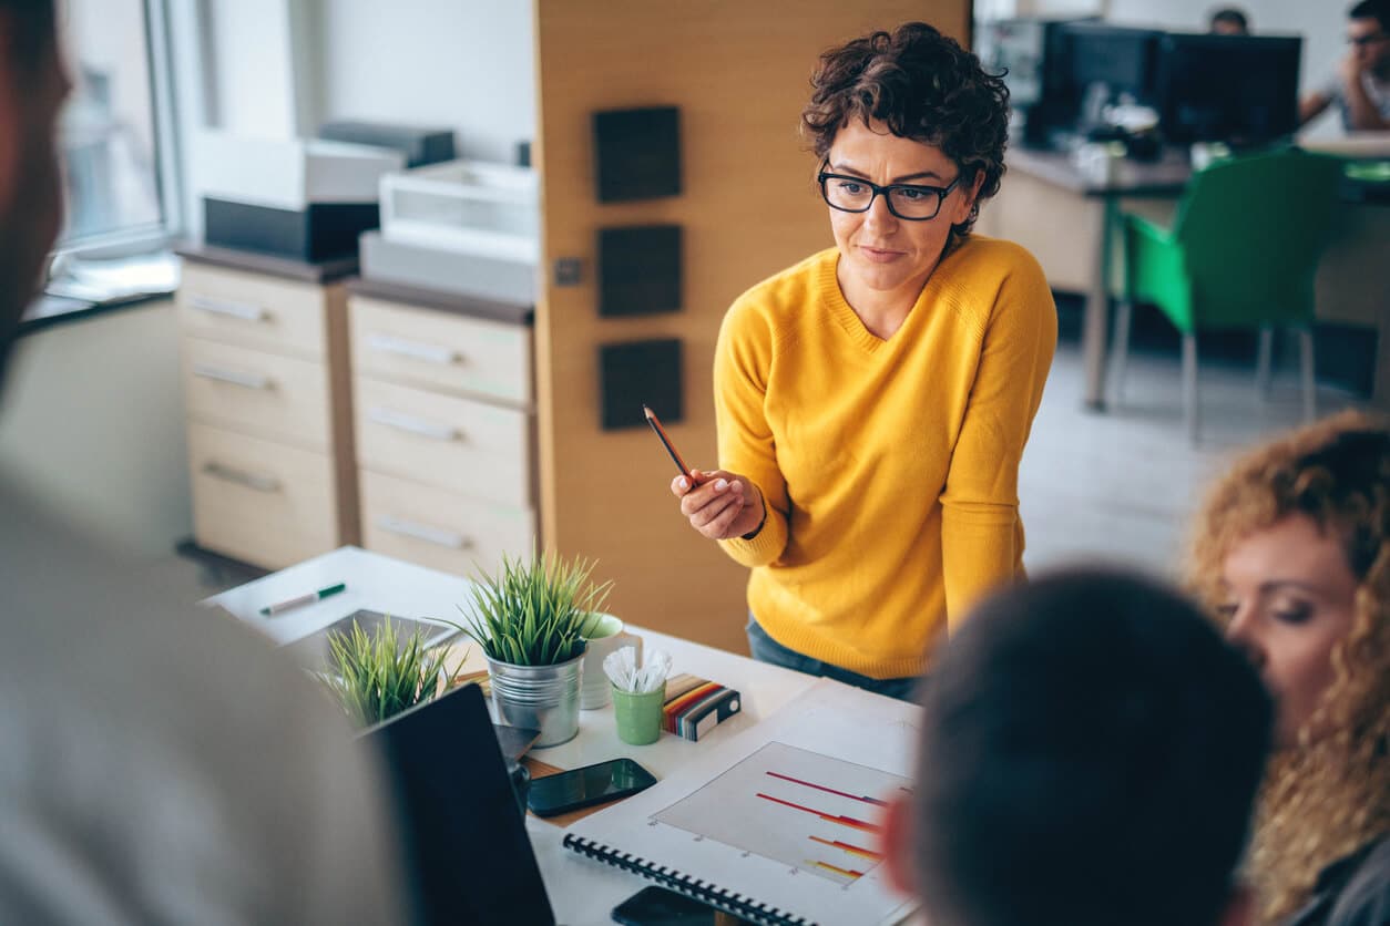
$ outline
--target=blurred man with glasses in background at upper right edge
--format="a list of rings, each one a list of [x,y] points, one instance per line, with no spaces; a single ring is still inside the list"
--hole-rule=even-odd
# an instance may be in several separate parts
[[[1347,11],[1351,46],[1337,74],[1298,104],[1307,125],[1336,104],[1348,132],[1390,131],[1390,0],[1359,0]]]

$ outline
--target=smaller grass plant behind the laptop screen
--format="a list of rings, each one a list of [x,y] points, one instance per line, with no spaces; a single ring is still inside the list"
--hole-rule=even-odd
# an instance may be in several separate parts
[[[424,639],[423,630],[402,639],[389,616],[373,633],[353,622],[328,636],[318,677],[354,723],[381,723],[439,693],[446,648],[430,651]]]

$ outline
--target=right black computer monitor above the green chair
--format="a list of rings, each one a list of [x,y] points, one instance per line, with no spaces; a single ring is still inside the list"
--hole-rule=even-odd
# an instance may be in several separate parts
[[[1156,99],[1163,137],[1244,147],[1293,135],[1301,56],[1298,36],[1165,35]]]

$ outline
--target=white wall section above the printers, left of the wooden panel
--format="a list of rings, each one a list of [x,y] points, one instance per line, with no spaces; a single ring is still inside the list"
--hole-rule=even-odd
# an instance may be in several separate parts
[[[325,0],[324,118],[453,128],[463,157],[535,136],[531,0]]]

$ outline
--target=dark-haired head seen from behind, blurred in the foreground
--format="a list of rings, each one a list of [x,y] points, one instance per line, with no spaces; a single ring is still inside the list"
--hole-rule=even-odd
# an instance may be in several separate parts
[[[1080,569],[988,598],[926,682],[887,875],[931,926],[1237,926],[1269,746],[1251,665],[1176,591]]]

